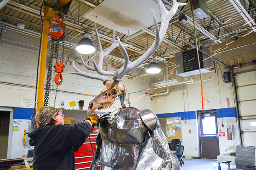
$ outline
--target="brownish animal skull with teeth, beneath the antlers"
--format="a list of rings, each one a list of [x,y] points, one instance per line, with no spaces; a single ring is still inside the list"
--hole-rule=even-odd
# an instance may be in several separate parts
[[[102,91],[98,96],[91,100],[88,106],[87,114],[92,114],[94,110],[106,109],[112,107],[116,103],[116,97],[125,95],[125,86],[119,81],[106,82],[106,89]]]

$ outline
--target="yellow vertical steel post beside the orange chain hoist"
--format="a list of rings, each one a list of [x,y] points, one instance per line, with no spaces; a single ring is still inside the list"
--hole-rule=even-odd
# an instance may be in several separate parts
[[[70,0],[59,0],[59,6],[65,6]],[[50,3],[50,0],[46,2]],[[40,66],[38,75],[38,96],[36,104],[36,112],[43,107],[43,97],[44,97],[44,87],[45,87],[45,66],[46,66],[46,54],[47,54],[47,44],[48,44],[48,29],[49,23],[53,20],[53,16],[58,11],[53,11],[53,9],[44,6],[44,18],[43,18],[43,32],[41,40],[41,53],[40,53]]]

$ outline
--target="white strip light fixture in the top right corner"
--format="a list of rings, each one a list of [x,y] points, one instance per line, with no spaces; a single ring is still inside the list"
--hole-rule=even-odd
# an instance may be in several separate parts
[[[245,22],[253,20],[251,16],[248,14],[246,9],[244,9],[243,5],[238,0],[229,0],[232,5],[236,8],[236,10],[239,12],[239,14],[244,18]],[[255,21],[252,21],[251,23],[248,23],[251,29],[253,29],[254,32],[256,32],[256,23]]]

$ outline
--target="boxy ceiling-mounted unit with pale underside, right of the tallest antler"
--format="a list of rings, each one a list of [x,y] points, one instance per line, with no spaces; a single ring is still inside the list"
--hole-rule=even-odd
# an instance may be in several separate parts
[[[193,4],[193,8],[192,8]],[[207,4],[206,0],[192,0],[192,3],[190,2],[191,6],[191,11],[193,9],[193,13],[198,17],[198,18],[205,18],[208,15],[207,11]]]

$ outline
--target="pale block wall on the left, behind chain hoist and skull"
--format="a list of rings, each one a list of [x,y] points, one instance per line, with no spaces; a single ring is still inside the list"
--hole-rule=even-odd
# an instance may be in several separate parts
[[[12,32],[7,30],[6,32],[2,32],[2,38],[16,40],[20,42],[24,42],[31,45],[39,45],[39,41],[35,39],[25,36],[24,34],[18,34],[16,32]],[[0,81],[6,83],[15,83],[15,84],[23,84],[28,86],[35,86],[36,84],[36,67],[38,60],[38,52],[35,50],[27,50],[20,46],[8,45],[4,43],[0,43]],[[72,60],[70,60],[72,62]],[[55,59],[53,60],[55,62]],[[64,59],[64,63],[67,62],[67,59]],[[76,61],[76,66],[81,71],[86,71],[89,73],[93,73],[88,71],[84,66],[79,66]],[[48,66],[48,63],[46,63]],[[91,65],[92,66],[92,65]],[[73,107],[69,107],[69,102],[79,100],[84,100],[84,109],[87,109],[89,102],[98,95],[102,90],[105,89],[102,81],[88,79],[82,76],[69,74],[73,72],[74,69],[70,65],[66,65],[65,70],[63,72],[63,83],[58,87],[58,90],[67,91],[67,92],[58,92],[56,98],[55,107],[60,107],[61,101],[66,102],[65,109],[73,109]],[[45,75],[47,74],[47,67]],[[51,82],[51,89],[56,89],[56,84],[54,83],[55,72],[53,71],[53,77]],[[46,76],[45,76],[46,77]],[[109,79],[112,80],[110,76]],[[45,81],[46,82],[46,81]],[[35,98],[35,87],[25,87],[18,86],[14,84],[6,84],[0,83],[0,105],[6,107],[15,107],[20,108],[21,98]],[[145,89],[149,89],[151,83],[148,81],[140,81],[139,79],[129,80],[126,76],[123,78],[122,83],[125,84],[127,89],[127,94],[130,92],[142,91]],[[71,92],[81,93],[74,94]],[[88,96],[88,95],[94,96]],[[134,93],[130,97],[131,100],[136,99],[140,93]],[[53,105],[55,98],[55,91],[50,92],[49,96],[49,105]],[[139,109],[149,108],[154,110],[154,105],[152,102],[147,101],[148,99],[141,99],[131,104],[133,107],[137,107]],[[126,105],[127,97],[126,97]],[[151,106],[149,106],[151,105]],[[121,107],[120,100],[117,97],[116,104],[114,105],[116,108]],[[74,109],[78,108],[78,104],[74,107]],[[100,110],[102,112],[109,111],[112,112],[116,108],[108,108],[106,110]],[[26,121],[31,117],[33,113],[32,108],[27,108],[29,112],[24,113],[22,111],[20,117],[15,117],[14,120],[22,120],[22,125],[19,127],[18,132],[13,132],[12,135],[12,151],[11,158],[21,157],[22,155],[26,155],[27,150],[31,149],[31,147],[23,146],[23,130],[26,129]],[[30,110],[32,109],[32,110]]]

